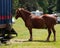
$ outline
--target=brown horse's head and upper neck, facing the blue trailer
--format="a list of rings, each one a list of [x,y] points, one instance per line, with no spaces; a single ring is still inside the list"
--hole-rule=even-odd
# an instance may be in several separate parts
[[[27,10],[25,10],[24,8],[18,8],[16,10],[16,19],[19,18],[19,17],[22,17],[22,18],[27,18],[27,17],[30,17],[29,15],[31,15],[31,13]]]

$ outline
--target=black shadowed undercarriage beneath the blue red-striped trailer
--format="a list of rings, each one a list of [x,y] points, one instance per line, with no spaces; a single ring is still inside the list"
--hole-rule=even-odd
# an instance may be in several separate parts
[[[15,36],[12,36],[13,34],[15,34],[17,36],[17,32],[11,28],[11,25],[7,25],[6,28],[2,28],[0,29],[0,41],[1,43],[6,43],[6,41],[9,41],[10,39],[14,38]]]

